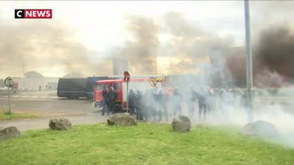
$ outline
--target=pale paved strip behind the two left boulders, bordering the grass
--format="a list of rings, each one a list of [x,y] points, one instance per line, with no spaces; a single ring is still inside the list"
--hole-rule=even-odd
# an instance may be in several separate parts
[[[44,118],[30,118],[21,120],[3,120],[0,121],[0,127],[16,126],[19,131],[48,129],[49,121],[52,118],[66,118],[72,125],[77,124],[95,124],[106,122],[109,116],[100,114],[82,114],[82,115],[59,115]]]

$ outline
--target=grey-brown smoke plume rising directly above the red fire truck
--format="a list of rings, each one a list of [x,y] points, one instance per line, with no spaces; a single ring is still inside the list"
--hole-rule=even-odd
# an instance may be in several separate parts
[[[154,74],[160,26],[153,19],[132,16],[128,17],[126,28],[134,40],[126,41],[124,47],[114,47],[110,56],[128,59],[133,74]]]

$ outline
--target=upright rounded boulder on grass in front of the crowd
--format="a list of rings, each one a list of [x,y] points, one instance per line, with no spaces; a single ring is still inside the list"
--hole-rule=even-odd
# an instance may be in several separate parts
[[[179,115],[178,118],[174,118],[172,122],[173,131],[187,132],[191,129],[190,118],[185,115]]]

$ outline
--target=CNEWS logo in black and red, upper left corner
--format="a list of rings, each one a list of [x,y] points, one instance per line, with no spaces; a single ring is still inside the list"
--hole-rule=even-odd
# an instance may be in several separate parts
[[[15,9],[15,19],[52,19],[52,9]]]

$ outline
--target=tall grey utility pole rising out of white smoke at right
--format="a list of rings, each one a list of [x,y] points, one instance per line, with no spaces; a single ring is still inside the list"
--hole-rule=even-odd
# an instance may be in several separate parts
[[[252,69],[252,51],[251,51],[251,27],[250,27],[250,11],[249,0],[244,0],[245,10],[245,33],[246,33],[246,104],[248,122],[254,121],[253,116],[253,69]]]

